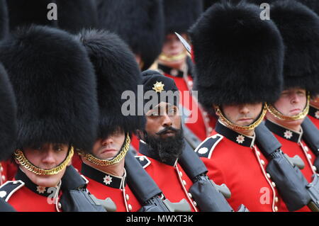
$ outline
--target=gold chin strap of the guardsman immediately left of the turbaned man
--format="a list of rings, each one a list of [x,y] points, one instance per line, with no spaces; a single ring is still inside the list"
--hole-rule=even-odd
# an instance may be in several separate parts
[[[127,134],[125,137],[124,145],[123,145],[120,153],[118,153],[118,155],[116,155],[116,157],[114,157],[111,160],[98,159],[98,158],[94,157],[92,154],[87,154],[87,153],[84,153],[83,151],[79,151],[79,155],[81,155],[87,161],[89,161],[93,164],[96,164],[99,166],[110,166],[110,165],[113,165],[113,164],[120,162],[125,157],[125,154],[128,152],[129,148],[130,148],[130,136]]]

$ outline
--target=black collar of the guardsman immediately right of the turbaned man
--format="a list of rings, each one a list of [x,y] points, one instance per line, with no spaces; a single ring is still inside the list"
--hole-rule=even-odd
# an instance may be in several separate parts
[[[229,140],[237,143],[238,145],[242,145],[245,147],[252,147],[254,146],[254,137],[248,137],[247,135],[240,134],[238,132],[235,132],[234,130],[231,130],[227,126],[220,123],[220,120],[216,123],[216,132],[218,132],[220,135],[223,135],[224,137],[228,138]]]

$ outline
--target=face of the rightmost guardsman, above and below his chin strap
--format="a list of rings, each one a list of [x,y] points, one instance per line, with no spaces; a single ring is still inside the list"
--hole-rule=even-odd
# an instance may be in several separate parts
[[[285,89],[281,92],[279,99],[274,103],[274,107],[283,115],[293,116],[301,113],[307,104],[307,94],[305,89]],[[267,113],[267,118],[283,125],[287,128],[301,125],[303,119],[299,120],[280,120],[275,118],[272,114]]]

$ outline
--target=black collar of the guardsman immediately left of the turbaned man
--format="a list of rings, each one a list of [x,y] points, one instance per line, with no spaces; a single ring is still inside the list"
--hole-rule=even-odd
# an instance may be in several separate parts
[[[125,169],[124,176],[113,176],[111,174],[106,174],[102,171],[99,171],[98,169],[94,169],[93,167],[88,166],[85,163],[82,163],[81,174],[89,177],[89,179],[94,179],[94,181],[102,183],[103,185],[111,188],[121,189],[125,188],[126,186]]]

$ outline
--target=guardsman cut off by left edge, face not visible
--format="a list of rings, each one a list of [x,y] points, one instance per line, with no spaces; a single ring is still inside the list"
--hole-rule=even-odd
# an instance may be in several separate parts
[[[17,135],[17,122],[16,122],[16,100],[13,94],[13,89],[9,81],[8,74],[3,65],[0,64],[0,103],[1,103],[1,154],[0,161],[5,161],[11,157],[14,151]],[[0,163],[0,185],[6,180],[6,162]],[[3,198],[4,192],[0,191],[0,212],[12,211],[13,208]]]

